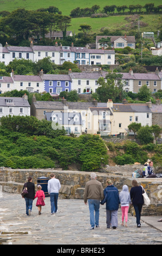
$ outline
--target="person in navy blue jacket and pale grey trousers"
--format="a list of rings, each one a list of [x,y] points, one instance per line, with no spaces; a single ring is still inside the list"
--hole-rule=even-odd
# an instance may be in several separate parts
[[[107,187],[103,191],[104,199],[102,200],[101,204],[103,205],[106,203],[106,223],[107,228],[115,229],[118,227],[118,209],[120,204],[119,199],[119,191],[118,188],[113,186],[113,182],[111,180],[107,180]]]

